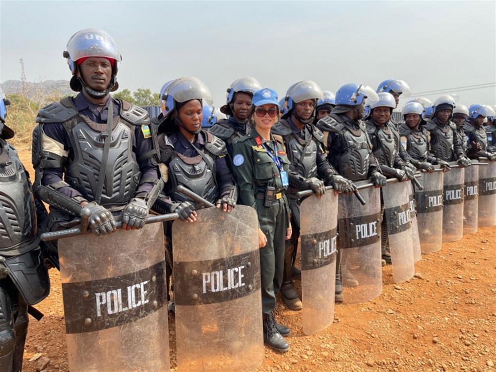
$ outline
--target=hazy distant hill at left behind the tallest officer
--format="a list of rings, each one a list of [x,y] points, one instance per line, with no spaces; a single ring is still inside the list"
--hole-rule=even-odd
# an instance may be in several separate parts
[[[0,84],[0,87],[9,94],[22,94],[23,87],[20,80],[7,80]],[[34,96],[68,96],[73,95],[74,92],[69,87],[68,80],[46,80],[39,83],[26,82],[24,87],[25,95],[28,98]]]

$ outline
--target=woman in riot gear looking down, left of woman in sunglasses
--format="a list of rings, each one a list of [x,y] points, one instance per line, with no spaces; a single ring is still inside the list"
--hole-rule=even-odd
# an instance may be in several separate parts
[[[162,99],[163,110],[154,120],[152,129],[168,182],[164,187],[165,194],[159,196],[153,209],[162,214],[178,213],[186,222],[196,221],[195,210],[201,205],[178,192],[176,188],[181,185],[218,208],[231,211],[236,205],[238,190],[226,163],[226,144],[201,127],[203,106],[212,104],[207,86],[196,77],[182,77],[164,86]],[[167,241],[172,242],[172,223],[164,227]],[[166,248],[169,284],[173,248],[171,244]],[[169,293],[167,296],[169,299]],[[169,309],[175,310],[174,303]]]

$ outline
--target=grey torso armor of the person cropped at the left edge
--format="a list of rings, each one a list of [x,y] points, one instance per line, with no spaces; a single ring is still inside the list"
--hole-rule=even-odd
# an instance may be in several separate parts
[[[38,247],[36,209],[17,152],[0,139],[0,254],[21,254]]]

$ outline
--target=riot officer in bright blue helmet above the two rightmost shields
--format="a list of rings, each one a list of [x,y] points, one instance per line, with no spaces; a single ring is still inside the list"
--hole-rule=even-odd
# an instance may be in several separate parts
[[[469,122],[465,124],[463,130],[467,135],[467,155],[470,158],[496,159],[496,148],[488,143],[487,133],[483,126],[484,119],[494,115],[494,110],[487,105],[475,104],[469,107]]]

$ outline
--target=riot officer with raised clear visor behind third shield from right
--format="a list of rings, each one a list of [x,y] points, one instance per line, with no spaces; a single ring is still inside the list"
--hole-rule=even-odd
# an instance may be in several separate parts
[[[456,161],[460,166],[470,165],[463,152],[462,144],[456,136],[456,125],[451,122],[455,100],[449,95],[439,97],[434,102],[434,116],[427,119],[425,128],[430,132],[431,152],[438,159]]]

